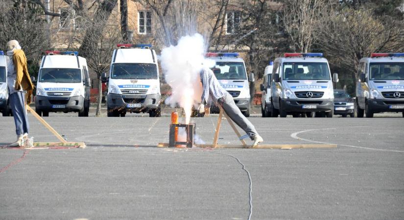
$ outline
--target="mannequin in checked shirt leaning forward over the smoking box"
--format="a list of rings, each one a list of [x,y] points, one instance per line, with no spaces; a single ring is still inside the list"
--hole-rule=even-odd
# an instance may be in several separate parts
[[[224,88],[220,86],[214,73],[209,68],[204,68],[200,72],[202,90],[202,102],[199,106],[199,113],[207,112],[209,114],[209,108],[205,108],[205,105],[209,105],[208,99],[213,99],[220,105],[226,114],[240,127],[244,132],[248,134],[254,143],[251,147],[254,147],[261,143],[262,137],[258,134],[257,130],[251,122],[241,113],[240,109],[236,106],[233,97]]]

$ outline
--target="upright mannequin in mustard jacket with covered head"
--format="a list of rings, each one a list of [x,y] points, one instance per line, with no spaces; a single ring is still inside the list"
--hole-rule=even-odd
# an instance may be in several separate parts
[[[31,95],[34,86],[29,77],[26,57],[20,44],[16,40],[7,42],[7,56],[10,58],[7,64],[7,86],[10,93],[10,107],[13,112],[16,125],[17,141],[12,143],[12,147],[24,146],[28,143],[29,123],[26,115],[24,91],[27,93],[27,105],[31,103]],[[31,146],[27,146],[31,147]]]

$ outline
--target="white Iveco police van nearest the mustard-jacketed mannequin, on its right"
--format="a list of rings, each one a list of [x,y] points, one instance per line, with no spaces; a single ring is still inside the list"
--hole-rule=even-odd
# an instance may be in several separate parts
[[[46,51],[38,74],[35,111],[78,112],[87,117],[90,108],[90,76],[85,58],[77,51]]]

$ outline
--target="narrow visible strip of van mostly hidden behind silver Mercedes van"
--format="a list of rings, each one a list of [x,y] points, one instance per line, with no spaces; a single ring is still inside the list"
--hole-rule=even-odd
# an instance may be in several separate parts
[[[262,95],[261,95],[261,114],[262,117],[271,116],[271,76],[272,69],[274,67],[274,62],[270,61],[269,65],[265,67],[263,81],[260,85]]]

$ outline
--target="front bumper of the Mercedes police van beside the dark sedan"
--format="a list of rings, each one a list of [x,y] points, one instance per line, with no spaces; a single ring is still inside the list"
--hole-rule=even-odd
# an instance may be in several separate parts
[[[285,111],[293,111],[293,112],[331,111],[334,108],[333,99],[312,100],[312,102],[308,101],[309,100],[301,100],[301,99],[282,99],[281,105]],[[308,105],[316,106],[316,108],[303,109],[303,106]]]

